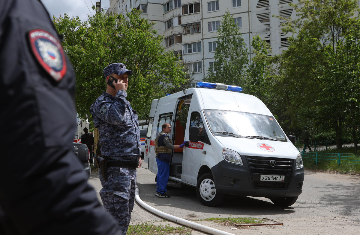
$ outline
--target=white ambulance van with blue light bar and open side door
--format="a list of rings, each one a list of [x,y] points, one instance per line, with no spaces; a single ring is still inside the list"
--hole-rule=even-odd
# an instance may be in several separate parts
[[[226,194],[270,198],[291,206],[302,192],[302,157],[273,114],[241,87],[197,83],[151,105],[145,157],[157,173],[154,140],[171,124],[169,181],[196,187],[199,201],[217,206]]]

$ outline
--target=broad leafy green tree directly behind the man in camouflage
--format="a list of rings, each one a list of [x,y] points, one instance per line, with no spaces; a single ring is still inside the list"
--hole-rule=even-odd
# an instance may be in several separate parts
[[[127,100],[139,119],[148,117],[151,101],[165,95],[163,83],[185,83],[183,65],[172,51],[165,52],[163,36],[155,23],[132,9],[126,15],[96,13],[85,22],[78,17],[53,18],[76,74],[76,109],[80,118],[89,117],[90,105],[106,88],[103,69],[122,62],[134,72],[129,77]]]

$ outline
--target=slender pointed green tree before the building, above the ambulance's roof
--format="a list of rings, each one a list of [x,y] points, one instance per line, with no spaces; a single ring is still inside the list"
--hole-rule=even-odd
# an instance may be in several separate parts
[[[242,86],[244,84],[244,71],[248,64],[246,44],[241,36],[238,25],[226,11],[217,29],[219,37],[214,53],[213,68],[207,70],[204,81]]]

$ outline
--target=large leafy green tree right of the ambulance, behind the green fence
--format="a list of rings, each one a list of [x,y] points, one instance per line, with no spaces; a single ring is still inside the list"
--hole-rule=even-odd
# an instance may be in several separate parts
[[[287,20],[283,28],[284,33],[294,34],[282,60],[282,84],[289,84],[294,99],[289,113],[298,114],[293,120],[300,118],[301,126],[311,126],[306,122],[313,121],[316,126],[332,127],[341,149],[343,123],[354,101],[348,90],[348,72],[342,68],[353,67],[353,62],[345,60],[353,53],[345,44],[359,23],[353,17],[357,1],[299,0],[291,5],[299,18]]]

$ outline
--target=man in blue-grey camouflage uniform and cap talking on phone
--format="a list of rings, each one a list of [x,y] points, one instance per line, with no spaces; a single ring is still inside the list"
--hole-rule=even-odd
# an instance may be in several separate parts
[[[90,108],[94,126],[99,130],[101,154],[107,160],[106,172],[99,170],[103,186],[100,196],[105,210],[126,234],[134,207],[136,168],[141,167],[139,119],[126,100],[127,79],[132,71],[122,63],[115,63],[105,67],[103,72],[106,92]],[[109,79],[113,82],[108,83]]]

